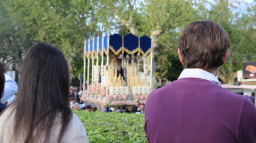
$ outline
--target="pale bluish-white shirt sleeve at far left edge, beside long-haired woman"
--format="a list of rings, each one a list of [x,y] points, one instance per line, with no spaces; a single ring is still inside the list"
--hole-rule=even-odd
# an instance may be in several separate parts
[[[17,92],[16,82],[4,73],[5,83],[4,83],[4,95],[2,96],[1,102],[4,103],[13,94]]]

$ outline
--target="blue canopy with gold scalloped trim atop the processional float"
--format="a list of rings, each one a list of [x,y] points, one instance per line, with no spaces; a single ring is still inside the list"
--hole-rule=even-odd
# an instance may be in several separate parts
[[[100,37],[86,40],[86,56],[87,58],[93,58],[98,56],[98,53],[99,55],[108,55],[108,47],[115,55],[138,53],[146,56],[151,51],[151,38],[146,35],[138,38],[131,33],[125,36],[113,34],[109,38],[108,35],[101,35]]]

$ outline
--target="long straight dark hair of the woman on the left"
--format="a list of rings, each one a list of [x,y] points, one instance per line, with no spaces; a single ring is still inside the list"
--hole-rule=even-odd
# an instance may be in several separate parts
[[[21,134],[25,142],[49,142],[54,120],[60,117],[60,142],[72,117],[63,53],[46,43],[35,44],[23,59],[20,75],[17,99],[10,105],[15,112],[13,138]]]

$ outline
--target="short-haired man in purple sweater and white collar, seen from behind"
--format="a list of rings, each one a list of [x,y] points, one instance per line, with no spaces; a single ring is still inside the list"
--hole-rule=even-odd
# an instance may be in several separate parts
[[[179,39],[178,80],[152,91],[145,132],[152,142],[256,142],[256,108],[217,79],[228,56],[226,31],[211,20],[192,22]]]

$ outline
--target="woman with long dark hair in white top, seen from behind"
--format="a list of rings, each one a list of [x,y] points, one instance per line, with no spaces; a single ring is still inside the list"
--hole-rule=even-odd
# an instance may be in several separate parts
[[[46,43],[23,58],[14,102],[1,112],[0,142],[89,142],[69,107],[69,70],[63,53]]]

